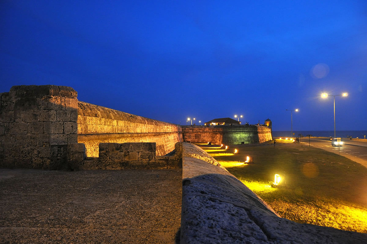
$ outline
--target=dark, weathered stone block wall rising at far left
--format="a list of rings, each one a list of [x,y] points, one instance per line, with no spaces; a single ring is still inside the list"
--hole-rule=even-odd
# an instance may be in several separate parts
[[[66,145],[77,142],[77,92],[13,86],[0,102],[0,167],[63,168]]]

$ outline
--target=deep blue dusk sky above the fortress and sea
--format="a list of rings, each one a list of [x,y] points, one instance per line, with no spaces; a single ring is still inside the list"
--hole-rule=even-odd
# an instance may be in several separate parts
[[[298,3],[302,2],[302,3]],[[186,124],[367,130],[367,1],[0,1],[0,92],[64,85],[81,101]]]

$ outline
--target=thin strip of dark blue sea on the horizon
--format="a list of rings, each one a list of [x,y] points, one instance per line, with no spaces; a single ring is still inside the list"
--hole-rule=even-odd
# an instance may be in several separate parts
[[[334,130],[293,130],[294,136],[298,137],[299,134],[303,136],[312,135],[312,136],[325,136],[334,137]],[[366,135],[367,138],[367,130],[337,130],[337,137],[347,137],[352,136],[353,138],[359,137],[361,139]],[[273,137],[289,137],[291,136],[291,131],[273,131]]]

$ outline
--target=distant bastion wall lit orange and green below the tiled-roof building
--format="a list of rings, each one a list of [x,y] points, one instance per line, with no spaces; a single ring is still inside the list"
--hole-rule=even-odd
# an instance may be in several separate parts
[[[271,129],[258,125],[182,126],[183,141],[212,144],[262,143],[272,140]]]

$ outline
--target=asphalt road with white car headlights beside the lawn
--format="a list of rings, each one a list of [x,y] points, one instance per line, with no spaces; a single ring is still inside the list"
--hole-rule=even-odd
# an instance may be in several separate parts
[[[320,147],[326,149],[328,151],[333,151],[334,153],[347,154],[359,159],[364,159],[367,161],[367,142],[364,141],[352,141],[352,140],[343,140],[343,146],[341,147],[333,147],[331,146],[331,141],[327,139],[316,139],[311,138],[310,144],[311,146]],[[308,145],[308,138],[303,137],[302,142]]]

